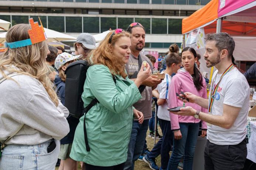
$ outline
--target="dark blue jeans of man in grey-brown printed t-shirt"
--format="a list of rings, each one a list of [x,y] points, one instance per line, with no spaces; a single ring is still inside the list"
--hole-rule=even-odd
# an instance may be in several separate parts
[[[133,121],[132,133],[128,145],[128,155],[124,164],[124,170],[134,169],[134,162],[142,153],[148,127],[149,119],[144,120],[142,124],[139,124],[139,121]]]

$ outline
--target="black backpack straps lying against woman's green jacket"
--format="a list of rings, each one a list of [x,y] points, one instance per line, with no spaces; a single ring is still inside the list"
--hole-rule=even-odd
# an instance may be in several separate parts
[[[113,78],[113,81],[115,82],[116,84],[116,76],[112,74],[112,78]],[[91,103],[85,107],[85,109],[83,109],[83,113],[86,115],[86,113],[94,106],[96,105],[97,103],[99,103],[99,100],[98,99],[93,99],[91,101]],[[88,143],[88,138],[87,138],[87,132],[86,132],[86,125],[85,125],[85,117],[83,117],[83,135],[84,135],[84,138],[85,138],[85,147],[86,147],[86,151],[87,152],[90,152],[90,146],[89,146],[89,143]]]

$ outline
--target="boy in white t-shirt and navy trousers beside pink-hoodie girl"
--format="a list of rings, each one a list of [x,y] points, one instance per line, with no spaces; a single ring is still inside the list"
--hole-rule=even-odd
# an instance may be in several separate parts
[[[163,137],[157,142],[151,152],[147,153],[143,157],[143,161],[146,162],[151,169],[158,169],[155,163],[155,158],[161,154],[161,168],[167,169],[170,159],[170,150],[173,144],[173,132],[171,131],[170,114],[168,109],[168,92],[171,86],[171,74],[177,73],[181,65],[181,57],[177,53],[170,53],[165,57],[166,70],[164,80],[157,85],[157,88],[153,90],[153,95],[157,98],[158,110],[157,117],[159,120],[160,128],[163,133]]]

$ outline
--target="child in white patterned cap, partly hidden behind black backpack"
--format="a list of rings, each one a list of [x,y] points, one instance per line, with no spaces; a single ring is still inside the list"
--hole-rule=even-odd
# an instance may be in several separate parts
[[[55,67],[59,71],[59,75],[55,77],[54,84],[56,86],[56,91],[61,103],[65,104],[65,70],[69,64],[73,63],[81,57],[82,55],[73,56],[69,53],[61,53],[57,56],[55,60]],[[69,157],[69,153],[71,151],[71,146],[75,134],[76,126],[79,122],[79,119],[74,118],[72,116],[67,118],[69,124],[69,133],[61,139],[61,150],[59,152],[59,159],[61,159],[61,164],[59,165],[59,170],[65,169],[77,169],[77,162]]]

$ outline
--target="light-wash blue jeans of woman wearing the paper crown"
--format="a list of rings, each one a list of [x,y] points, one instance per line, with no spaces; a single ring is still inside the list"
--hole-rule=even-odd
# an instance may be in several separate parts
[[[58,160],[60,143],[55,140],[55,149],[48,153],[51,141],[38,145],[6,145],[0,158],[0,169],[54,170]]]

